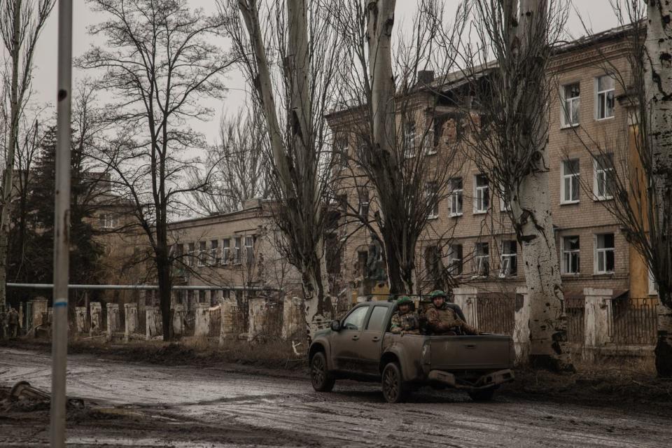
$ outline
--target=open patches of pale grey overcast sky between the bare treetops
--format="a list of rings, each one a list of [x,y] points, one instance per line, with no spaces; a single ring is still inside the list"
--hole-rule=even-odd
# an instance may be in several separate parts
[[[190,0],[190,5],[194,8],[201,7],[206,10],[215,10],[214,0]],[[446,8],[448,12],[454,11],[458,5],[458,0],[447,0]],[[568,32],[573,37],[579,37],[584,34],[582,25],[578,18],[581,15],[584,21],[589,22],[594,31],[603,31],[617,25],[614,15],[611,12],[608,0],[575,0],[576,13],[570,17],[568,23]],[[92,38],[87,34],[87,27],[101,20],[97,13],[93,13],[87,6],[85,0],[73,0],[73,56],[82,55],[83,52],[92,43]],[[417,8],[417,0],[397,0],[397,10],[395,13],[395,22],[397,26],[404,29],[414,15]],[[36,48],[36,71],[34,79],[34,88],[36,94],[34,101],[39,103],[55,102],[56,92],[56,59],[57,59],[57,11],[58,6],[52,12],[45,25],[43,34],[38,41]],[[91,75],[92,73],[88,73]],[[83,73],[73,72],[73,78],[81,78]],[[223,104],[213,102],[211,107],[215,109],[215,117],[210,123],[196,123],[193,126],[205,134],[207,141],[214,144],[217,137],[218,121],[222,113],[233,115],[241,107],[246,98],[246,85],[243,78],[237,72],[228,74],[228,83],[230,91]],[[73,83],[73,87],[75,83]]]

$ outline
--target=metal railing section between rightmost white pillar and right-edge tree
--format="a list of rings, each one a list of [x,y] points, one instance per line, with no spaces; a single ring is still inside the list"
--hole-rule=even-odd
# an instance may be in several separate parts
[[[608,300],[609,337],[613,344],[652,345],[658,332],[657,297]]]

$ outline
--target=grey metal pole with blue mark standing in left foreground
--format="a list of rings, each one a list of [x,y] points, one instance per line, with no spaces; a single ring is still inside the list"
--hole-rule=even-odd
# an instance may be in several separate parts
[[[72,0],[58,2],[58,97],[56,123],[56,212],[54,223],[54,328],[52,332],[52,448],[65,446],[65,375],[68,353],[70,246],[70,105],[72,83]]]

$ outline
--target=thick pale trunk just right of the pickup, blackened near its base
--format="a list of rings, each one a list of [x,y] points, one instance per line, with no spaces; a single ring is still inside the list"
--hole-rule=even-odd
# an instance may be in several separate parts
[[[518,23],[512,25],[512,30],[521,43],[519,51],[524,54],[531,45],[538,45],[528,42],[528,36],[536,35],[530,32],[531,27],[540,27],[540,24],[547,23],[547,3],[522,0],[519,10],[514,8],[516,3],[510,3],[512,17],[515,17],[514,13],[519,17]],[[515,39],[512,41],[515,42]],[[543,58],[538,59],[537,63],[546,64]],[[534,72],[545,73],[545,70]],[[539,81],[541,88],[546,86],[542,80]],[[547,105],[542,104],[541,100],[544,95],[535,92],[527,94],[535,95],[540,101],[530,102],[531,107],[526,112],[531,117],[542,117],[542,120],[546,120]],[[528,120],[529,123],[534,123],[533,118]],[[531,361],[537,367],[565,370],[571,368],[571,365],[566,349],[567,322],[549,197],[547,124],[538,125],[533,132],[538,134],[512,136],[512,141],[519,138],[522,148],[536,146],[536,153],[533,158],[534,166],[523,174],[518,191],[510,198],[514,227],[522,246],[525,281],[531,304]]]

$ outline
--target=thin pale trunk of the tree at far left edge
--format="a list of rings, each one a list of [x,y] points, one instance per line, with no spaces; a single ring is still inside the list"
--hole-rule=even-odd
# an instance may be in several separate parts
[[[20,95],[19,94],[19,41],[21,33],[21,6],[22,0],[14,2],[13,17],[13,35],[12,35],[12,80],[10,85],[10,130],[9,141],[7,142],[7,153],[5,157],[5,172],[2,183],[2,209],[0,209],[0,303],[6,307],[7,300],[7,246],[9,236],[9,212],[11,208],[12,186],[14,175],[14,156],[19,138],[19,114],[20,114]]]

